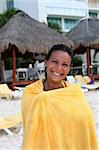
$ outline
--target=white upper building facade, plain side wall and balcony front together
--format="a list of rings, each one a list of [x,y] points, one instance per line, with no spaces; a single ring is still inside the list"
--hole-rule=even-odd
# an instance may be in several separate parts
[[[85,17],[87,9],[84,0],[14,0],[14,5],[41,22],[51,14]]]

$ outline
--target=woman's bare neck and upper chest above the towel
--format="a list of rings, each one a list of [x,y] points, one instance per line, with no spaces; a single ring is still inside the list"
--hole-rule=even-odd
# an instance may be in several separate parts
[[[58,89],[58,88],[62,88],[62,87],[63,87],[63,85],[61,82],[55,83],[55,82],[51,82],[48,80],[45,80],[45,82],[44,82],[44,90],[45,91]]]

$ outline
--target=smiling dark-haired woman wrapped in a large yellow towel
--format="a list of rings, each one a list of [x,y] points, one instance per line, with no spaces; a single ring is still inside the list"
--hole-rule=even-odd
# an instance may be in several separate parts
[[[45,79],[23,94],[23,150],[97,150],[92,111],[77,84],[67,84],[72,50],[54,45],[45,59]]]

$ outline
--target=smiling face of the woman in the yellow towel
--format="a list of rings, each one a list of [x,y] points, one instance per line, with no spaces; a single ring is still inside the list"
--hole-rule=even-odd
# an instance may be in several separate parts
[[[49,60],[45,61],[47,80],[61,82],[69,73],[71,57],[61,50],[52,52]]]

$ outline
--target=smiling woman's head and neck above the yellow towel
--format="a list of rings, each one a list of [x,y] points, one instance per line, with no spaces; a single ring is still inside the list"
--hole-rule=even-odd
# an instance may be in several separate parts
[[[46,60],[46,79],[44,89],[51,90],[62,87],[61,81],[70,71],[72,51],[64,45],[54,45],[49,51]]]

